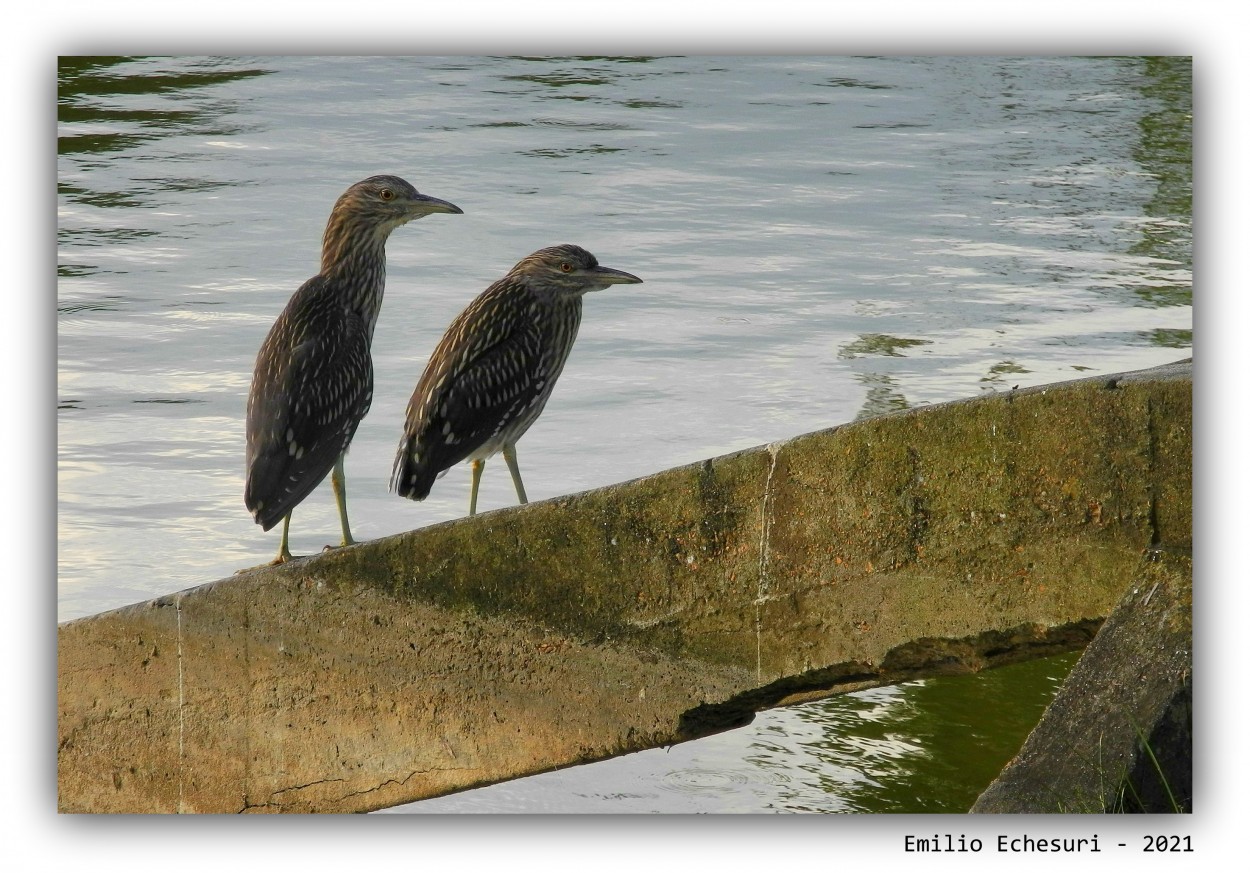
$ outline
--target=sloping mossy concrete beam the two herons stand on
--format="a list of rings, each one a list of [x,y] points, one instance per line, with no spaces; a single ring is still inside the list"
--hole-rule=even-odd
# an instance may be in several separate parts
[[[1085,645],[1191,528],[1188,364],[996,393],[59,629],[66,812],[361,812]]]

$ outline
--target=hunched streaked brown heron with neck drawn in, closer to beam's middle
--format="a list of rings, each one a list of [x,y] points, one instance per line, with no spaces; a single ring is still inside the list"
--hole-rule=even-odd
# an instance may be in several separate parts
[[[516,497],[526,503],[516,440],[542,413],[569,359],[582,295],[640,281],[600,266],[585,249],[556,245],[482,291],[448,328],[409,400],[391,489],[424,500],[439,475],[469,458],[472,515],[482,467],[502,452]]]

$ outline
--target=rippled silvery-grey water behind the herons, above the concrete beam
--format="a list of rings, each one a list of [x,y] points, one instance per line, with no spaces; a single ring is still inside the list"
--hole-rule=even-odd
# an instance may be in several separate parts
[[[555,243],[645,284],[588,300],[519,447],[535,500],[1191,353],[1184,59],[80,58],[59,80],[61,620],[271,555],[241,500],[251,365],[374,173],[465,215],[389,245],[361,538],[464,514],[465,469],[388,494],[404,406],[450,319]],[[480,505],[512,500],[488,465]],[[292,549],[336,532],[319,489]]]

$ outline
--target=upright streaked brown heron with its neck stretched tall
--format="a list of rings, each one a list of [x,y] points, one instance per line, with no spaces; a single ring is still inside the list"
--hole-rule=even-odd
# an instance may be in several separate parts
[[[460,214],[398,176],[371,176],[334,204],[321,273],[304,283],[270,328],[248,395],[248,484],[256,524],[282,523],[275,564],[291,558],[291,510],[331,469],[342,544],[348,525],[342,458],[374,395],[369,354],[386,284],[386,238],[431,213]]]

